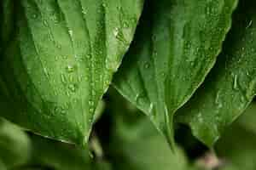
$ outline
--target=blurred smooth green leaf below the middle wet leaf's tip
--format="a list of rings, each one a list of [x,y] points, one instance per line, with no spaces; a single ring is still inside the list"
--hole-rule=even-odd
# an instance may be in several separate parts
[[[183,150],[179,148],[174,154],[148,117],[118,95],[113,95],[112,101],[108,155],[113,169],[189,170]]]

